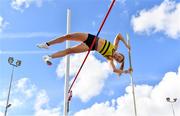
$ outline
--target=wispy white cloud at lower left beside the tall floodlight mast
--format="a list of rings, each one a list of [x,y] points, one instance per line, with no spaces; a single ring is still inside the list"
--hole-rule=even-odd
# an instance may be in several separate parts
[[[0,116],[6,106],[6,99],[6,96],[0,99]],[[21,78],[14,83],[14,87],[11,90],[9,103],[12,104],[11,107],[13,108],[10,111],[15,112],[17,108],[28,108],[28,110],[31,108],[32,111],[35,111],[35,116],[59,116],[61,114],[61,106],[51,108],[48,105],[49,100],[45,90],[39,90],[29,78]]]

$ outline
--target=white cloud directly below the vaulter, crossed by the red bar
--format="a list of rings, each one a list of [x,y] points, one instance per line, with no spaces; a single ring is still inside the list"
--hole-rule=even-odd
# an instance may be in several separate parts
[[[86,53],[81,53],[71,56],[70,76],[74,77],[76,75],[85,55]],[[59,77],[64,76],[64,67],[65,59],[60,61],[57,68],[57,75]],[[105,80],[111,72],[112,71],[106,62],[101,62],[93,56],[93,53],[90,53],[73,86],[73,95],[79,97],[83,102],[99,95],[104,87]]]

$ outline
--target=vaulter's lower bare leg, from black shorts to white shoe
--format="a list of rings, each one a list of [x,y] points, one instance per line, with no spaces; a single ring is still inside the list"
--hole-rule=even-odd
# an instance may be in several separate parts
[[[89,50],[89,47],[86,46],[84,43],[81,43],[78,46],[68,48],[68,49],[65,49],[63,51],[56,52],[56,53],[50,55],[50,57],[51,58],[59,58],[59,57],[66,56],[68,54],[81,53],[81,52],[86,52],[88,50]]]

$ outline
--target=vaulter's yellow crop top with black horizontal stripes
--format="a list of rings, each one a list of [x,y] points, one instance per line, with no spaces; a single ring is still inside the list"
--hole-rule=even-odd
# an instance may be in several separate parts
[[[115,46],[111,42],[105,40],[103,47],[100,49],[99,53],[108,59],[109,56],[113,55],[115,51]]]

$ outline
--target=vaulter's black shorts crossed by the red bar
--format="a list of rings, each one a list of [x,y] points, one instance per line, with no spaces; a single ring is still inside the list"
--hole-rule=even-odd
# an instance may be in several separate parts
[[[91,47],[91,44],[93,43],[93,40],[95,39],[95,35],[92,35],[92,34],[88,34],[88,37],[87,39],[84,41],[84,43],[90,48]],[[92,47],[91,50],[97,50],[97,46],[98,46],[98,40],[99,38],[96,37],[96,41]]]

